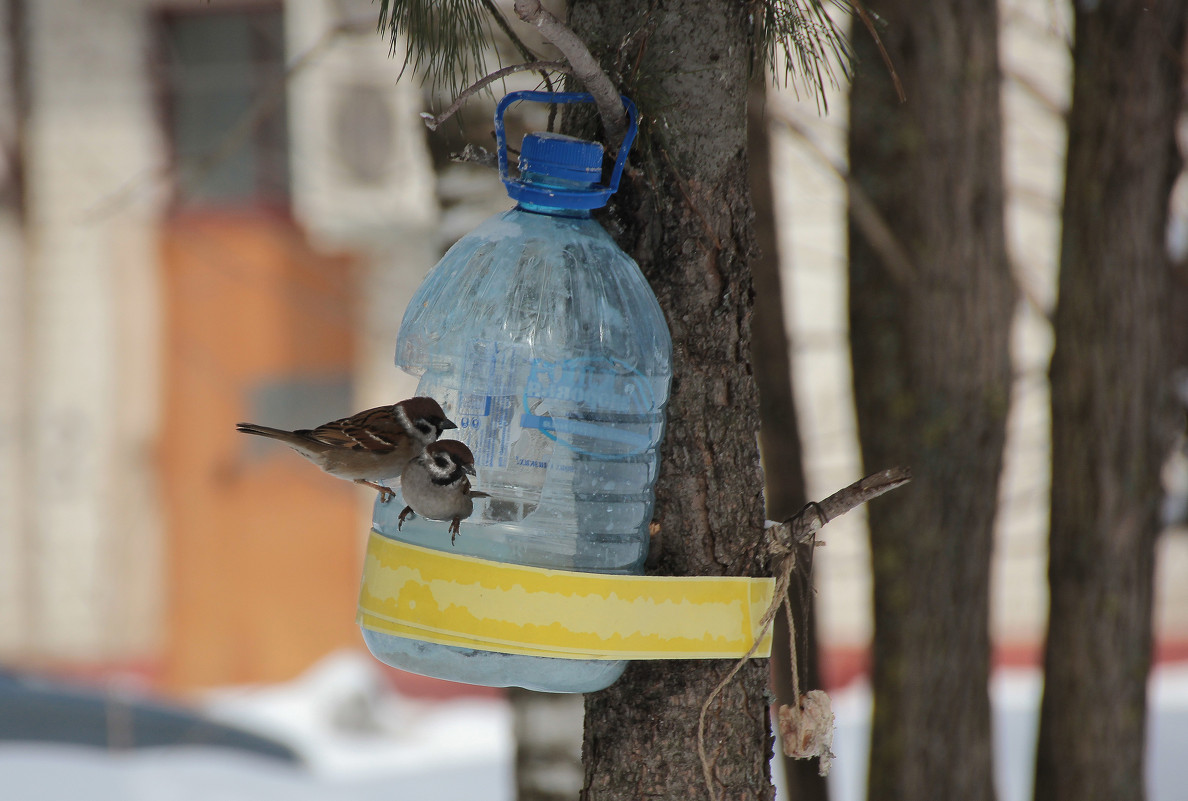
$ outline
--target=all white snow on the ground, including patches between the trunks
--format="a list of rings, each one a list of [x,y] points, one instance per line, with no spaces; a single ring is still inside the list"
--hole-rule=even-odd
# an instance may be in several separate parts
[[[1188,664],[1151,681],[1150,801],[1188,787]],[[1040,700],[1036,670],[999,670],[991,687],[1000,801],[1025,801]],[[870,689],[833,693],[834,801],[860,801]],[[283,740],[303,765],[198,748],[102,751],[0,743],[4,801],[511,801],[511,714],[501,700],[422,701],[393,693],[377,663],[343,652],[287,685],[210,693],[203,711]],[[776,771],[778,775],[778,771]]]

